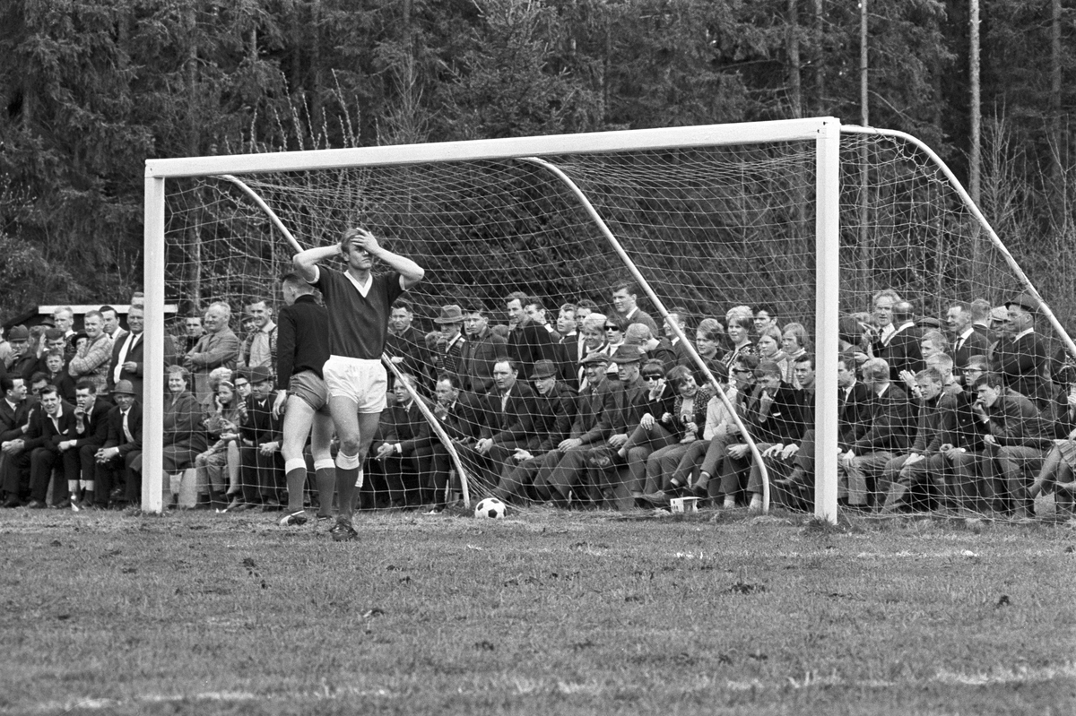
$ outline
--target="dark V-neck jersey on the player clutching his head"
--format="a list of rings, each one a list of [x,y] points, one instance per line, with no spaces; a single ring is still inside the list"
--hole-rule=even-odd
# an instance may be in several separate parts
[[[329,316],[329,353],[379,360],[388,334],[388,313],[404,292],[396,271],[371,275],[364,296],[350,274],[317,267],[312,285],[322,291]]]

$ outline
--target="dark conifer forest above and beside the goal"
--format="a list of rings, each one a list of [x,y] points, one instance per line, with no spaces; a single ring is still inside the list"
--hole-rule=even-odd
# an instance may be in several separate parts
[[[979,203],[1076,304],[1073,0],[981,0]],[[833,115],[854,0],[11,0],[0,9],[0,319],[124,303],[150,157]],[[967,0],[867,13],[867,109],[967,184]]]

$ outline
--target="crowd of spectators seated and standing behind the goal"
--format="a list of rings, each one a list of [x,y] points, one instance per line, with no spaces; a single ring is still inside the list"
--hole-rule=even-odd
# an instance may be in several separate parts
[[[214,302],[166,336],[166,504],[287,503],[273,302],[242,309],[238,334],[231,306]],[[141,501],[142,310],[132,300],[125,330],[102,306],[75,332],[60,309],[52,326],[17,326],[0,343],[3,506]],[[1023,518],[1052,491],[1072,513],[1076,377],[1036,332],[1038,310],[1020,295],[924,316],[887,289],[872,312],[841,317],[845,509]],[[458,499],[463,468],[472,493],[515,505],[662,509],[694,497],[760,510],[764,466],[775,504],[812,509],[815,356],[802,324],[763,304],[672,309],[659,325],[631,284],[612,287],[608,311],[587,300],[554,311],[521,292],[502,312],[448,304],[420,317],[394,304],[385,356],[398,377],[360,507],[438,512]],[[308,487],[328,516],[332,496]]]

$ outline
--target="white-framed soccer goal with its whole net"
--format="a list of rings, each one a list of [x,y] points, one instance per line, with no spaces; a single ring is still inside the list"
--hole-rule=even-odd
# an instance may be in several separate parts
[[[407,452],[368,461],[368,507],[436,503],[448,486],[471,503],[497,496],[516,506],[621,510],[668,506],[682,496],[746,504],[758,495],[762,505],[832,518],[838,497],[881,510],[906,484],[898,511],[1011,511],[1013,476],[981,440],[957,445],[981,453],[971,467],[892,462],[919,447],[914,396],[903,443],[856,445],[854,466],[832,457],[854,440],[838,415],[838,355],[890,358],[895,385],[914,393],[926,363],[896,356],[888,323],[915,323],[897,333],[915,336],[920,358],[924,336],[952,356],[959,336],[946,319],[954,305],[969,317],[979,305],[972,302],[985,301],[989,324],[990,309],[996,319],[996,306],[1028,288],[918,144],[844,133],[839,156],[823,156],[837,146],[836,126],[797,120],[147,162],[147,212],[153,197],[162,199],[147,237],[152,224],[164,225],[159,252],[147,250],[147,260],[160,257],[164,282],[155,296],[158,269],[147,271],[147,301],[179,303],[181,314],[224,301],[242,336],[245,306],[280,304],[278,280],[295,253],[281,226],[303,248],[364,226],[422,266],[425,280],[394,312],[398,335],[386,358],[395,359],[391,382],[413,377],[399,400],[427,410],[421,420],[385,413],[371,457],[381,441]],[[641,315],[629,313],[633,296]],[[1048,320],[1036,328],[1051,355],[1061,347]],[[592,353],[611,360],[586,369],[580,361]],[[799,354],[813,360],[797,362]],[[1054,373],[1062,362],[1051,363]],[[678,364],[688,370],[670,373]],[[787,406],[795,419],[782,421],[788,415],[776,409],[767,416],[769,401],[761,401],[774,364],[781,382],[807,384],[807,397]],[[952,383],[951,364],[931,366]],[[955,368],[959,378],[966,366]],[[454,377],[439,383],[444,374]],[[620,378],[635,385],[636,375],[656,374],[668,386],[651,392],[659,381],[643,380],[635,400],[645,409],[592,396]],[[811,396],[815,386],[824,399]],[[153,402],[152,388],[146,395]],[[794,395],[783,389],[775,404]],[[448,431],[439,400],[458,407]],[[586,413],[591,400],[605,401],[604,415]],[[656,425],[638,428],[648,412]],[[749,425],[737,419],[748,416]],[[583,444],[567,450],[574,438]],[[938,445],[923,452],[931,458]],[[1032,464],[1020,468],[1024,479]]]

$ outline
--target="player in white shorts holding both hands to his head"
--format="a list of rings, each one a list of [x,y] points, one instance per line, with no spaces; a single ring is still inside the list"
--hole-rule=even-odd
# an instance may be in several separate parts
[[[342,255],[346,270],[322,271],[317,266]],[[374,275],[374,259],[388,264],[391,272]],[[337,542],[358,536],[352,525],[355,487],[363,482],[363,460],[378,430],[385,407],[388,380],[381,353],[388,333],[388,315],[404,291],[425,272],[409,258],[393,254],[366,229],[348,229],[339,245],[308,248],[295,255],[295,270],[322,291],[329,317],[329,359],[322,372],[329,392],[329,412],[336,426],[337,524],[331,529]]]

